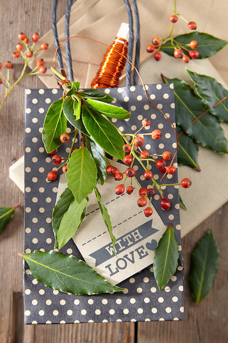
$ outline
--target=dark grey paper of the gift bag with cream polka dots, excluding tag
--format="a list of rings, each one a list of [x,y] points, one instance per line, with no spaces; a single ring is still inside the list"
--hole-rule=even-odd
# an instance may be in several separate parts
[[[174,122],[173,85],[146,85],[148,95],[154,105],[157,105]],[[149,118],[147,130],[161,129],[163,136],[152,140],[144,135],[144,147],[150,152],[159,154],[165,150],[175,152],[176,138],[170,122],[157,109],[149,105],[142,86],[105,89],[115,103],[131,111],[131,118],[126,120],[112,119],[112,122],[124,132],[136,132],[141,127],[141,120]],[[49,251],[54,248],[54,235],[51,226],[52,209],[55,205],[59,177],[48,181],[47,174],[54,170],[51,156],[43,146],[41,131],[45,114],[50,103],[62,96],[62,90],[29,90],[25,91],[25,240],[24,251],[36,249]],[[71,131],[68,125],[67,131]],[[145,132],[145,131],[143,131]],[[148,131],[149,132],[149,131]],[[76,140],[76,145],[79,142]],[[71,140],[59,148],[60,155],[69,152]],[[161,174],[156,166],[150,163],[154,178],[159,180]],[[177,159],[174,160],[177,167]],[[137,169],[137,165],[136,165]],[[142,178],[143,171],[138,166],[136,173],[141,174],[142,187],[151,187]],[[172,179],[172,180],[171,180]],[[175,183],[177,173],[164,177],[164,183]],[[153,274],[153,266],[145,268],[119,286],[124,292],[99,295],[66,294],[45,287],[29,275],[28,265],[24,264],[24,309],[25,323],[79,323],[79,322],[113,322],[113,321],[151,321],[151,320],[182,320],[183,319],[183,264],[180,241],[180,218],[178,187],[163,187],[164,197],[172,203],[169,211],[160,207],[160,198],[156,194],[153,205],[168,225],[172,221],[179,244],[178,269],[166,287],[159,290]],[[82,259],[79,250],[71,239],[62,249],[65,254],[73,254]]]

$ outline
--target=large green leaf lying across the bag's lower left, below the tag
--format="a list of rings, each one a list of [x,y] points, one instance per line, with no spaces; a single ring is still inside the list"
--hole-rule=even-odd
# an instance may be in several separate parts
[[[18,254],[27,263],[30,274],[46,287],[76,295],[123,291],[112,285],[85,262],[59,251]]]

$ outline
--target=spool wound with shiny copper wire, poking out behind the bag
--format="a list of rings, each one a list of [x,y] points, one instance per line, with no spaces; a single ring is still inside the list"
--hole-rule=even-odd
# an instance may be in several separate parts
[[[117,35],[111,47],[104,54],[100,68],[91,82],[91,88],[112,88],[118,86],[119,78],[126,64],[124,56],[127,57],[127,46],[128,41]],[[116,50],[124,56],[118,54]]]

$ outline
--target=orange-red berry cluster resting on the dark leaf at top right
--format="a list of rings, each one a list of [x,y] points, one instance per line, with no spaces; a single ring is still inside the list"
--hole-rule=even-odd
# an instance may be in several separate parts
[[[185,20],[182,16],[180,16],[183,20]],[[171,26],[173,26],[174,23],[176,23],[178,20],[178,17],[176,14],[173,14],[173,15],[170,15],[169,17],[169,21],[172,23]],[[186,20],[185,20],[186,21]],[[190,30],[195,30],[197,28],[197,24],[193,21],[191,22],[188,22],[188,28]],[[151,52],[154,52],[155,48],[157,49],[157,51],[154,53],[154,59],[156,61],[159,61],[161,58],[162,58],[162,55],[160,54],[160,49],[162,47],[162,44],[164,43],[164,41],[167,39],[167,38],[172,38],[171,39],[171,44],[173,45],[174,47],[174,56],[176,58],[182,58],[182,61],[185,62],[185,63],[188,63],[189,60],[190,60],[190,57],[195,59],[195,58],[198,58],[199,57],[199,51],[197,50],[189,50],[187,47],[189,46],[191,49],[195,49],[198,47],[198,42],[196,40],[192,40],[189,44],[180,44],[178,42],[176,42],[173,37],[172,37],[172,27],[171,27],[171,32],[170,32],[170,35],[166,38],[158,38],[158,37],[154,37],[152,39],[152,44],[149,44],[147,46],[147,52],[151,53]],[[184,54],[183,50],[186,50],[189,54],[186,55]]]

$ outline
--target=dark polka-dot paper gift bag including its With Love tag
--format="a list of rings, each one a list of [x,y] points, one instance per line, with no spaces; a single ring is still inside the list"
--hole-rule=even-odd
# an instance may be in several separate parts
[[[157,84],[145,87],[150,99],[153,100],[153,104],[162,109],[175,127],[173,85]],[[115,105],[131,112],[129,119],[110,119],[120,131],[129,134],[135,133],[141,128],[142,119],[148,118],[150,119],[150,126],[144,129],[149,130],[148,132],[159,129],[163,135],[160,139],[152,139],[150,135],[144,134],[143,149],[151,152],[153,148],[153,152],[158,155],[160,151],[161,154],[163,153],[164,148],[172,154],[175,153],[176,136],[174,129],[159,109],[149,106],[142,86],[110,88],[104,91],[114,98],[113,103]],[[52,211],[56,203],[57,193],[59,198],[66,187],[66,180],[65,175],[58,176],[56,180],[51,182],[47,179],[48,172],[54,166],[51,163],[52,156],[45,151],[41,135],[50,103],[62,96],[62,90],[27,89],[25,93],[24,251],[30,253],[34,250],[50,251],[54,249]],[[73,129],[71,124],[67,123],[66,132]],[[71,140],[62,144],[58,149],[58,155],[65,157],[66,153],[70,151],[71,145]],[[75,146],[79,146],[77,138]],[[107,158],[111,165],[118,166],[118,169],[124,173],[126,166],[123,165],[123,162],[120,164],[121,161],[117,161],[116,158],[113,158],[112,161],[109,155]],[[153,156],[153,158],[159,159],[158,156]],[[174,166],[177,168],[176,156]],[[146,189],[151,188],[150,181],[143,177],[143,169],[140,163],[137,161],[133,167],[136,170],[136,177],[140,186]],[[155,180],[160,180],[164,175],[160,173],[153,162],[149,163],[149,170],[152,171]],[[143,208],[135,206],[135,204],[132,205],[135,201],[134,197],[138,198],[138,195],[136,196],[138,194],[137,181],[132,181],[135,190],[129,196],[126,193],[115,194],[115,186],[121,184],[122,181],[115,181],[109,175],[107,175],[106,180],[104,202],[106,207],[110,206],[109,213],[113,233],[116,236],[116,241],[119,242],[115,245],[116,248],[118,247],[116,249],[117,257],[112,256],[110,258],[111,255],[108,251],[110,247],[107,248],[110,242],[106,236],[106,229],[101,227],[96,213],[93,214],[93,212],[98,212],[98,206],[93,209],[92,200],[87,206],[85,223],[79,227],[73,239],[70,239],[61,248],[61,252],[85,260],[101,275],[105,270],[104,277],[124,290],[80,296],[55,291],[34,279],[25,262],[24,310],[26,324],[183,320],[183,263],[178,186],[162,186],[164,197],[169,199],[171,207],[168,211],[163,210],[160,206],[161,198],[156,193],[152,198],[153,214],[147,218],[143,214]],[[177,182],[177,172],[173,175],[166,174],[163,178],[164,184]],[[99,190],[101,191],[100,188]],[[118,210],[118,207],[124,206],[124,204],[124,211]],[[154,250],[169,222],[173,224],[179,245],[178,267],[172,279],[160,290],[154,277],[152,263]],[[85,234],[87,227],[89,227],[88,236]],[[99,239],[99,235],[103,235],[103,237]],[[134,244],[132,237],[135,239]],[[130,247],[132,245],[132,249],[127,244],[130,244]],[[121,251],[122,248],[123,251]],[[55,248],[55,250],[58,249]],[[116,262],[117,260],[118,262]]]

